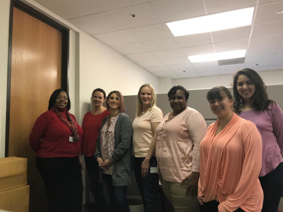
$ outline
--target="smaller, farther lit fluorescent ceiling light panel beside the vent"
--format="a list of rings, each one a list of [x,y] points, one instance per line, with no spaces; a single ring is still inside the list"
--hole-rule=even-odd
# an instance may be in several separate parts
[[[216,52],[211,54],[200,54],[194,56],[188,56],[190,62],[207,62],[207,61],[216,61],[222,59],[232,59],[245,57],[246,49],[234,50],[228,52]]]

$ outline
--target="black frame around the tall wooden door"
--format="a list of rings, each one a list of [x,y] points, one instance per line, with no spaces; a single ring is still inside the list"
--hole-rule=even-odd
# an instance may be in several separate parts
[[[47,17],[36,9],[24,4],[20,0],[11,0],[9,19],[9,46],[8,46],[8,76],[7,76],[7,103],[6,103],[6,135],[5,135],[5,157],[9,156],[9,129],[10,129],[10,104],[11,104],[11,63],[12,63],[12,32],[13,32],[13,8],[33,16],[43,23],[57,29],[62,33],[62,76],[61,88],[69,92],[69,39],[70,30]]]

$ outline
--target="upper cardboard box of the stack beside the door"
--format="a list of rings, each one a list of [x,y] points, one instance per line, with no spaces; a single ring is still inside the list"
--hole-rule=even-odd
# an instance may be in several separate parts
[[[0,192],[27,184],[27,158],[0,158]]]

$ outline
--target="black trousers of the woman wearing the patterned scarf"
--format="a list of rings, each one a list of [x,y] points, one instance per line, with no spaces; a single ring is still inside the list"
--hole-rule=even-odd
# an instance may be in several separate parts
[[[81,212],[83,181],[78,157],[40,158],[36,167],[45,184],[48,212]]]

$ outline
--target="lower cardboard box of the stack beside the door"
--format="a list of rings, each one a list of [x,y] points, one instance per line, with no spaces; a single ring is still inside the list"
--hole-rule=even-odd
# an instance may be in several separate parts
[[[0,192],[0,211],[28,212],[29,185]]]

